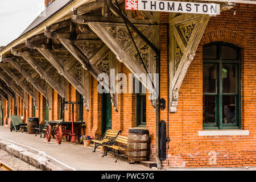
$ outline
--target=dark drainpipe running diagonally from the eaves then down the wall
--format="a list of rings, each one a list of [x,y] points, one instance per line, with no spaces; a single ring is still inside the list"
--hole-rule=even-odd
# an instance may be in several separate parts
[[[117,2],[117,0],[115,0]],[[159,74],[158,77],[158,83],[160,83],[160,51],[158,48],[156,48],[154,46],[154,44],[152,44],[150,42],[150,40],[148,40],[146,38],[146,36],[144,36],[142,34],[141,31],[138,30],[137,27],[134,26],[133,23],[130,22],[130,20],[128,18],[126,18],[125,15],[123,15],[123,13],[121,11],[119,11],[118,7],[115,6],[112,2],[112,0],[106,0],[110,11],[112,11],[112,13],[118,17],[122,17],[123,20],[129,24],[129,26],[144,40],[144,42],[146,42],[148,44],[148,46],[150,46],[156,53],[156,73]],[[156,159],[156,165],[158,167],[158,169],[162,168],[162,163],[159,159],[159,125],[160,125],[160,84],[158,86],[158,90],[157,90],[157,94],[158,97],[156,98],[156,102],[155,102],[155,112],[156,112],[156,126],[155,126],[155,159]]]

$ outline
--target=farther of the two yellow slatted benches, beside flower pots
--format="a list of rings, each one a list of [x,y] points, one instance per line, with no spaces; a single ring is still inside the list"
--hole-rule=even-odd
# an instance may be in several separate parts
[[[96,152],[96,148],[98,146],[102,146],[102,144],[108,143],[108,142],[115,142],[115,138],[117,138],[118,134],[121,133],[121,130],[110,130],[108,129],[106,133],[97,139],[93,139],[92,142],[95,143],[93,152]],[[98,135],[96,134],[95,137]]]

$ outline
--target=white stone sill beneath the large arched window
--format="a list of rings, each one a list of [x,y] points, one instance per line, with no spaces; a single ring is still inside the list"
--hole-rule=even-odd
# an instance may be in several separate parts
[[[249,135],[249,130],[203,130],[198,131],[199,136]]]

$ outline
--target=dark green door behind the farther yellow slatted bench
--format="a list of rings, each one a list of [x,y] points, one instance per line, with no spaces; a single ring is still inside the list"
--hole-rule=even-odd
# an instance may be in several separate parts
[[[102,94],[102,118],[101,118],[101,133],[104,134],[106,130],[112,129],[112,104],[110,94]]]

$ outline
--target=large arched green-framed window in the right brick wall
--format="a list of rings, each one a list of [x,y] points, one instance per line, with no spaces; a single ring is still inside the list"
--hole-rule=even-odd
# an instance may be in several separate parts
[[[241,50],[229,43],[203,47],[203,127],[241,128]]]

